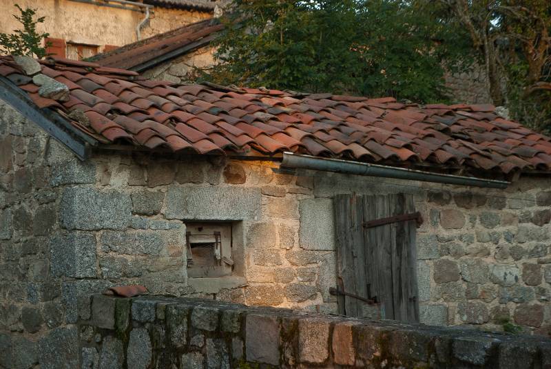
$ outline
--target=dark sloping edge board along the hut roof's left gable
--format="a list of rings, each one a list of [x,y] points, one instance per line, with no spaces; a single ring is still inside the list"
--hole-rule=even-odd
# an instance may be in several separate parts
[[[88,136],[60,114],[48,108],[39,108],[26,92],[20,90],[6,77],[0,76],[0,99],[9,103],[23,117],[33,121],[48,132],[54,139],[63,143],[81,160],[90,157],[92,146],[98,141]]]

